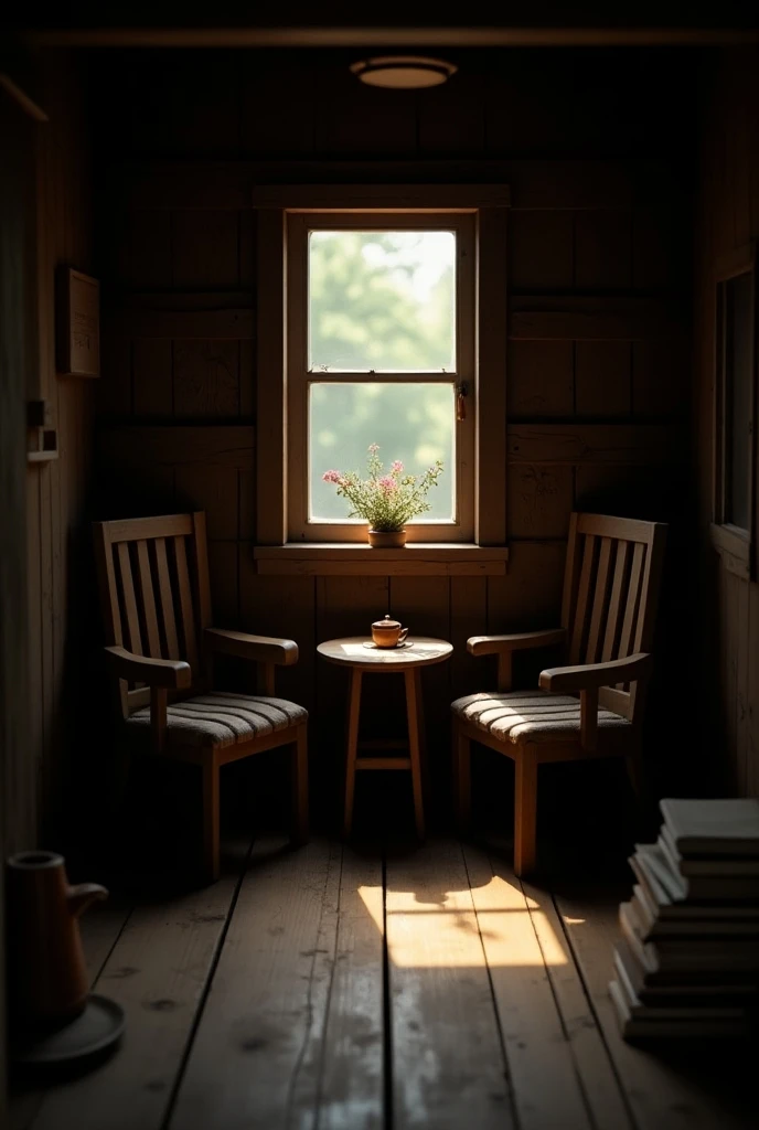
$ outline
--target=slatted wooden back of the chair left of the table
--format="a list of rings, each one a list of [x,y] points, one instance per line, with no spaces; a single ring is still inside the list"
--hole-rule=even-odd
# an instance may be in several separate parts
[[[95,556],[106,643],[192,668],[186,694],[204,688],[203,631],[211,626],[206,515],[171,514],[95,522]],[[124,718],[150,701],[120,680]]]

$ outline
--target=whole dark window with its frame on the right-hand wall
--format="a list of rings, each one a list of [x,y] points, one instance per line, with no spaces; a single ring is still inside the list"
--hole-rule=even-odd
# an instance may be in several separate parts
[[[715,381],[715,542],[749,575],[754,505],[754,253],[742,249],[717,278]]]

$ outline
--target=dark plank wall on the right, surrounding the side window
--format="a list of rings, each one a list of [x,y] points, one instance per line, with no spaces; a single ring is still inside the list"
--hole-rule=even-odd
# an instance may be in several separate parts
[[[725,51],[705,76],[697,214],[696,476],[699,633],[716,783],[759,796],[759,584],[731,573],[712,548],[715,263],[759,238],[759,53]],[[754,374],[756,376],[756,374]],[[759,493],[754,488],[754,498]]]

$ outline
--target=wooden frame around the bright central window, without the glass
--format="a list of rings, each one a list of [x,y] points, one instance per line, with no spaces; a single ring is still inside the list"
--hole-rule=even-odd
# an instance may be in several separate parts
[[[258,391],[256,391],[256,542],[258,560],[268,564],[281,554],[282,562],[311,560],[312,572],[324,568],[333,553],[355,549],[356,572],[366,567],[365,546],[358,541],[293,542],[289,540],[288,495],[288,216],[298,212],[415,212],[468,214],[473,218],[474,264],[474,374],[473,395],[468,399],[474,416],[473,537],[469,542],[415,542],[419,570],[450,570],[460,551],[460,568],[480,572],[477,551],[488,547],[488,572],[494,560],[505,572],[506,541],[506,355],[507,258],[506,218],[509,197],[504,185],[479,184],[303,184],[262,185],[253,193],[258,210]],[[496,316],[494,312],[499,312]],[[474,407],[476,406],[476,407]],[[326,528],[331,529],[331,528]],[[360,529],[360,528],[359,528]],[[308,557],[308,546],[314,550]],[[439,555],[436,553],[439,548]],[[500,548],[494,557],[492,549]],[[387,572],[408,567],[405,550],[387,557]],[[350,555],[352,556],[352,555]],[[416,554],[415,554],[416,557]],[[483,562],[485,564],[485,562]],[[344,568],[344,565],[343,565]],[[262,568],[263,572],[263,568]]]

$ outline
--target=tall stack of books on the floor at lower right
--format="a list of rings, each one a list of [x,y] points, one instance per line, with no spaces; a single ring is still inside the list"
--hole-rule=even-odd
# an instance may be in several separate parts
[[[741,1036],[759,989],[759,801],[663,800],[609,985],[626,1038]]]

